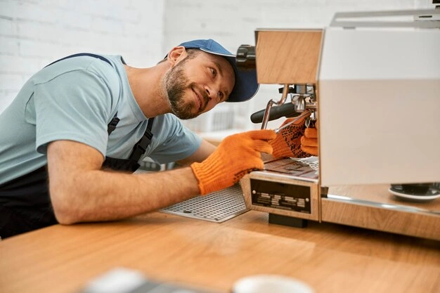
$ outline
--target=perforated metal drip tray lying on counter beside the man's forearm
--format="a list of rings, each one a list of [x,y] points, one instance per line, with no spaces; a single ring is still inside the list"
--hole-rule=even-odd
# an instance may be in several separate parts
[[[179,202],[160,211],[177,216],[221,223],[248,211],[248,209],[240,185],[234,185],[205,196]]]

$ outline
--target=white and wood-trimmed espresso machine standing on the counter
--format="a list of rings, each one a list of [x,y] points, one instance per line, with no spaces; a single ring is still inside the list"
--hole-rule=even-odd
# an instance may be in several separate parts
[[[238,65],[280,98],[252,122],[306,115],[319,154],[265,158],[240,181],[247,208],[270,223],[440,240],[440,9],[336,13],[322,30],[261,29],[255,41]]]

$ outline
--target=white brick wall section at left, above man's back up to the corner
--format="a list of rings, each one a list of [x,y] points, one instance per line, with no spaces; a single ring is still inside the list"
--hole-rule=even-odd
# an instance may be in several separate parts
[[[79,52],[163,58],[163,0],[0,0],[0,112],[41,67]]]

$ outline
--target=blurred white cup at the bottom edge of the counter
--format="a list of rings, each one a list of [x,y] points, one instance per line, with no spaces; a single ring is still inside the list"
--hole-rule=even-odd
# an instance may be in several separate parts
[[[252,275],[233,284],[233,293],[314,293],[309,285],[282,275]]]

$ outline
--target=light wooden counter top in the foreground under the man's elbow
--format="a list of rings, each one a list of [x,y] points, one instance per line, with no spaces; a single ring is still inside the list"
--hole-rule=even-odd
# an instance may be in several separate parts
[[[317,293],[440,292],[440,242],[330,223],[278,226],[259,211],[224,223],[154,212],[11,237],[0,242],[0,292],[78,292],[120,266],[220,292],[260,273]]]

